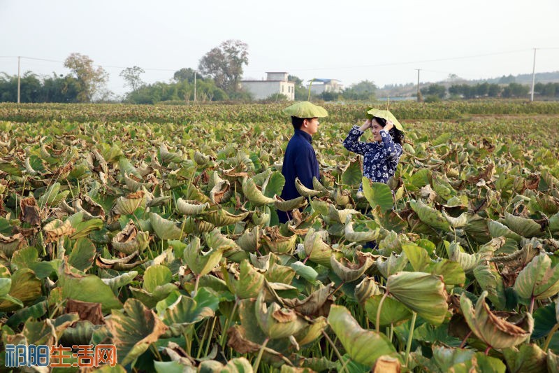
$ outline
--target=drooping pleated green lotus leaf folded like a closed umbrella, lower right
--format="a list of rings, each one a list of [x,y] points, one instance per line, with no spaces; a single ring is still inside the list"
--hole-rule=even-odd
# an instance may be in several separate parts
[[[386,291],[433,325],[447,316],[447,290],[442,276],[423,272],[398,272],[389,276]]]

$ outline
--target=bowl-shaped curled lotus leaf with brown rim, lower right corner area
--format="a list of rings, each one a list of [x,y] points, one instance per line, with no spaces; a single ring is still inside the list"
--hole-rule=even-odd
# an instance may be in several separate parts
[[[534,329],[534,319],[529,312],[517,323],[510,323],[491,312],[485,302],[486,297],[486,291],[481,293],[474,309],[466,294],[460,295],[460,310],[476,337],[493,349],[506,349],[530,338]]]

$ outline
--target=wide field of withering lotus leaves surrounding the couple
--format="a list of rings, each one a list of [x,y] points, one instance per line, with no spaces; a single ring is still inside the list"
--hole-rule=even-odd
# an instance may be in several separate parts
[[[284,106],[1,104],[0,359],[114,344],[101,371],[559,371],[559,104],[393,104],[388,184],[342,146],[370,105],[325,105],[321,180],[288,201]]]

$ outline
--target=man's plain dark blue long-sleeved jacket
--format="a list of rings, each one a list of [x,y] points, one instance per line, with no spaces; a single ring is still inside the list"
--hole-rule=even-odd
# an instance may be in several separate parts
[[[307,132],[300,129],[295,130],[295,134],[289,140],[285,149],[284,164],[282,174],[285,178],[284,190],[281,197],[285,200],[299,197],[299,192],[295,188],[295,178],[299,178],[305,187],[312,189],[312,177],[320,180],[319,162],[317,154],[311,145],[312,138]],[[291,214],[277,211],[279,222],[285,223],[291,218]]]

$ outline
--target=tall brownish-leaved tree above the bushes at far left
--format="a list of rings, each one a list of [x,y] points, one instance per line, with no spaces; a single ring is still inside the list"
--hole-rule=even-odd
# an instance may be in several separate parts
[[[80,102],[91,102],[107,83],[108,73],[101,66],[95,68],[93,59],[87,55],[72,53],[64,61],[64,67],[70,69],[78,80]]]

